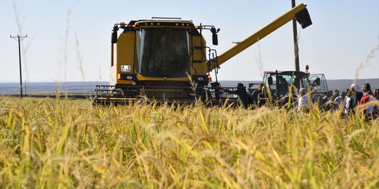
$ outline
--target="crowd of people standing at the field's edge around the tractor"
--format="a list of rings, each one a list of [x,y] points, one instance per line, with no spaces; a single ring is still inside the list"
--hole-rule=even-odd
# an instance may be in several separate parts
[[[290,92],[283,98],[275,97],[271,90],[267,90],[266,86],[261,84],[258,90],[252,93],[255,104],[262,107],[270,103],[270,99],[276,99],[283,107],[296,106],[297,112],[308,112],[310,103],[316,103],[316,84],[312,84],[310,91],[310,99],[305,88],[300,88],[298,95],[294,87],[290,87]],[[379,89],[371,90],[370,84],[363,84],[362,88],[358,84],[352,84],[350,88],[340,92],[339,90],[328,91],[326,96],[317,101],[324,111],[338,111],[341,109],[343,116],[351,116],[358,113],[368,119],[379,117],[379,107],[373,105],[375,99],[379,100]],[[356,112],[358,111],[358,112]]]

